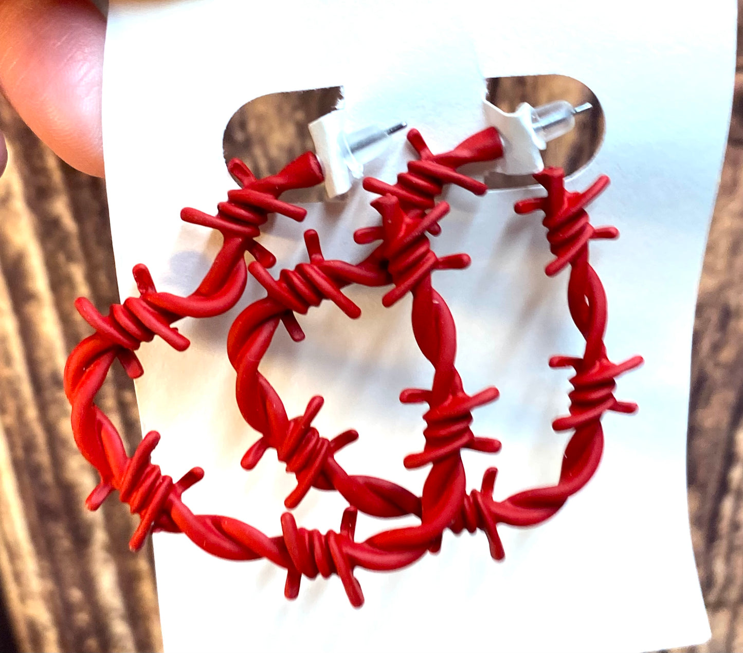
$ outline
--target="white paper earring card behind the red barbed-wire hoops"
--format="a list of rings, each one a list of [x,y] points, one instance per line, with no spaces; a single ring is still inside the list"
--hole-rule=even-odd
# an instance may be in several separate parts
[[[486,77],[562,73],[580,79],[606,114],[606,140],[568,183],[600,173],[612,184],[590,208],[617,242],[591,246],[609,297],[606,344],[615,361],[640,353],[645,367],[619,381],[617,398],[637,416],[606,415],[606,447],[594,479],[536,528],[500,529],[502,563],[484,534],[444,535],[441,554],[392,574],[357,571],[366,605],[348,605],[340,580],[302,580],[283,597],[284,571],[270,562],[225,562],[185,536],[155,536],[166,651],[645,651],[709,637],[688,530],[686,421],[692,321],[707,225],[727,136],[735,61],[735,3],[671,11],[663,0],[602,8],[534,0],[528,6],[466,1],[343,0],[248,3],[111,0],[106,41],[104,145],[111,230],[122,297],[131,269],[146,263],[158,289],[191,292],[221,244],[178,219],[207,212],[234,188],[222,160],[224,126],[241,105],[276,91],[343,85],[348,119],[363,126],[406,119],[433,151],[484,127],[481,77],[461,47],[452,10],[473,30]],[[351,125],[353,126],[353,125]],[[411,157],[396,141],[367,174],[392,182]],[[396,148],[396,149],[395,149]],[[502,439],[502,453],[466,451],[468,488],[499,467],[496,498],[559,476],[567,435],[566,370],[553,354],[578,354],[566,275],[545,277],[550,259],[536,216],[513,202],[535,189],[448,194],[452,212],[439,254],[468,252],[463,272],[437,272],[435,286],[458,326],[458,370],[474,393],[502,396],[476,410],[476,433]],[[302,232],[319,231],[326,257],[357,260],[358,226],[373,224],[371,195],[351,191],[343,211],[311,205],[305,223],[270,221],[262,242],[272,270],[305,260]],[[264,295],[257,283],[241,302]],[[425,387],[431,370],[415,348],[409,298],[382,309],[382,290],[352,288],[363,310],[352,322],[325,303],[300,318],[308,338],[279,333],[262,366],[290,416],[325,396],[315,424],[324,436],[356,428],[337,458],[419,491],[426,470],[403,469],[423,444],[421,407],[402,406],[404,387]],[[185,353],[162,341],[141,351],[137,382],[143,430],[163,435],[153,459],[178,478],[193,465],[203,482],[184,499],[195,512],[238,517],[279,534],[293,488],[268,453],[246,473],[239,461],[256,434],[234,400],[224,351],[237,314],[186,320]],[[371,354],[380,354],[380,362]],[[300,525],[337,529],[344,502],[312,490]],[[388,524],[389,525],[389,522]],[[382,528],[360,516],[357,539]]]

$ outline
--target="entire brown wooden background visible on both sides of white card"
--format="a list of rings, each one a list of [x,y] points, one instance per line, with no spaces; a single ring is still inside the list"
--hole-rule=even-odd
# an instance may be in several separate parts
[[[743,651],[741,57],[738,70],[692,355],[689,505],[713,629],[710,643],[688,649],[700,653]],[[585,99],[560,83],[503,82],[491,93],[533,104]],[[281,125],[291,108],[264,111]],[[600,120],[580,129],[551,146],[550,163],[575,169],[585,160]],[[62,391],[65,358],[90,332],[74,299],[85,295],[100,309],[118,301],[105,185],[59,161],[1,98],[0,131],[10,150],[0,178],[0,652],[158,651],[152,551],[129,553],[135,520],[124,505],[85,511],[96,481],[74,445]],[[114,370],[99,402],[133,448],[134,391]]]

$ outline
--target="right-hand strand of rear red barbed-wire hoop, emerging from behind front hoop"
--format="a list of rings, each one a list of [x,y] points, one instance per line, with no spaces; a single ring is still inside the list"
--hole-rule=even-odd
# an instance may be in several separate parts
[[[588,263],[588,243],[594,239],[616,238],[614,227],[594,228],[588,220],[585,206],[609,185],[609,177],[599,177],[588,189],[580,192],[565,190],[564,173],[560,168],[547,168],[535,179],[547,191],[546,197],[534,197],[516,203],[516,213],[541,210],[545,217],[547,240],[554,260],[545,268],[548,276],[570,266],[568,307],[571,317],[585,338],[582,357],[554,356],[550,367],[572,367],[570,379],[574,390],[569,393],[569,415],[552,423],[556,431],[574,430],[565,447],[557,485],[525,490],[504,501],[493,499],[497,470],[491,467],[484,474],[480,490],[473,490],[465,499],[461,513],[452,524],[452,531],[475,532],[480,529],[490,542],[490,554],[496,560],[504,557],[497,525],[531,526],[549,519],[565,501],[583,488],[599,465],[603,452],[601,418],[607,410],[635,413],[637,404],[614,398],[617,376],[634,370],[643,363],[633,356],[620,364],[609,361],[603,335],[606,332],[606,292]]]

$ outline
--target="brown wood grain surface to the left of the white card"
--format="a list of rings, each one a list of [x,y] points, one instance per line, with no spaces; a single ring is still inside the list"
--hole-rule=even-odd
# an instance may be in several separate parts
[[[115,300],[110,236],[108,251],[106,237],[101,239],[108,232],[105,194],[100,183],[85,182],[56,159],[7,105],[0,105],[0,128],[13,161],[0,180],[0,270],[7,291],[0,297],[0,422],[31,550],[46,582],[44,609],[17,591],[5,593],[9,605],[8,597],[22,603],[21,614],[46,615],[57,637],[56,643],[32,642],[34,621],[22,619],[17,639],[23,650],[159,650],[151,557],[126,549],[134,520],[125,506],[110,502],[100,513],[85,511],[96,478],[75,447],[62,391],[68,351],[89,332],[74,312],[74,298]],[[94,226],[89,209],[96,205]],[[82,219],[76,211],[84,210]],[[123,427],[126,441],[135,444],[136,410],[132,415],[131,384],[124,385],[118,392],[106,384],[99,400]],[[120,407],[126,408],[125,419]],[[8,520],[4,540],[10,539],[12,523]],[[3,523],[0,531],[4,528]],[[12,548],[13,560],[27,560],[33,568],[28,549],[24,554],[17,543]]]

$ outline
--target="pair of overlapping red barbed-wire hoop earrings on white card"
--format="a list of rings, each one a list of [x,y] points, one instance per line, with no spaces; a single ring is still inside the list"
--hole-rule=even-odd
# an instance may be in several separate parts
[[[635,404],[614,398],[615,378],[641,364],[635,356],[621,364],[609,361],[603,344],[606,329],[606,294],[597,273],[588,262],[589,241],[614,238],[613,227],[594,228],[585,206],[608,183],[600,177],[583,193],[566,191],[559,169],[535,175],[547,191],[516,203],[517,213],[541,210],[544,226],[555,259],[547,266],[548,275],[570,267],[568,307],[574,323],[585,338],[580,357],[556,356],[551,367],[573,367],[574,390],[569,394],[569,415],[553,422],[555,430],[573,430],[565,448],[557,485],[534,488],[493,499],[496,468],[484,474],[479,490],[467,493],[463,448],[496,453],[501,443],[475,436],[470,428],[472,410],[498,397],[495,387],[470,395],[464,391],[455,369],[456,331],[451,312],[432,285],[432,272],[461,269],[470,257],[457,254],[438,257],[432,252],[429,235],[441,232],[439,222],[449,211],[438,202],[444,186],[454,184],[475,194],[484,194],[484,184],[457,171],[467,163],[493,161],[502,156],[502,143],[495,128],[487,128],[468,138],[454,150],[434,155],[415,129],[408,134],[418,158],[398,175],[394,185],[366,178],[363,187],[380,195],[371,206],[380,214],[380,223],[354,234],[357,243],[379,244],[360,263],[326,260],[317,232],[305,232],[309,260],[293,270],[284,269],[274,279],[267,268],[276,258],[256,237],[269,213],[302,220],[305,210],[279,200],[283,191],[307,188],[322,181],[322,170],[314,154],[303,154],[273,177],[259,180],[238,160],[229,164],[241,189],[230,191],[227,202],[218,205],[216,215],[184,209],[187,222],[218,229],[224,244],[198,289],[181,298],[158,292],[146,266],[134,268],[140,296],[114,304],[108,315],[101,315],[85,299],[77,301],[83,318],[95,329],[71,353],[65,367],[65,392],[72,405],[72,426],[80,451],[97,468],[101,481],[88,497],[91,510],[98,508],[113,490],[120,500],[140,515],[140,525],[130,547],[140,548],[150,531],[182,532],[209,553],[230,560],[266,558],[287,570],[285,595],[296,597],[302,576],[329,577],[337,574],[354,606],[363,604],[363,594],[354,568],[390,571],[415,562],[426,551],[438,551],[441,536],[450,529],[461,533],[484,531],[490,554],[504,557],[499,523],[528,526],[545,521],[591,479],[603,449],[601,418],[607,410],[632,413]],[[256,259],[246,266],[244,253]],[[266,536],[250,525],[227,516],[195,515],[182,501],[184,491],[204,476],[195,467],[178,482],[163,476],[150,455],[160,436],[148,433],[132,456],[128,456],[117,430],[94,404],[108,369],[118,358],[132,378],[143,373],[134,351],[142,342],[159,335],[177,350],[189,342],[175,321],[186,316],[203,318],[232,308],[244,291],[247,272],[265,288],[267,296],[253,302],[236,318],[227,341],[227,353],[237,373],[236,398],[242,416],[261,437],[247,450],[241,465],[250,470],[269,448],[276,450],[288,473],[296,476],[296,488],[285,499],[295,508],[311,488],[335,490],[348,502],[336,531],[323,534],[296,525],[290,512],[281,517],[281,534]],[[312,425],[323,399],[313,397],[301,416],[289,418],[279,394],[259,372],[262,357],[270,347],[279,324],[294,341],[304,338],[296,314],[304,315],[311,306],[329,299],[350,318],[360,309],[343,294],[351,283],[389,286],[384,306],[392,306],[412,294],[412,328],[421,352],[434,369],[432,386],[407,389],[400,393],[405,403],[425,403],[424,447],[406,456],[408,468],[431,465],[423,493],[415,493],[385,479],[349,475],[334,454],[357,439],[349,430],[328,440]],[[414,515],[420,524],[382,531],[364,542],[354,539],[357,512],[393,517]]]

